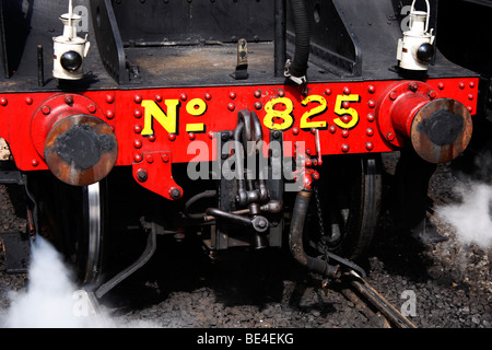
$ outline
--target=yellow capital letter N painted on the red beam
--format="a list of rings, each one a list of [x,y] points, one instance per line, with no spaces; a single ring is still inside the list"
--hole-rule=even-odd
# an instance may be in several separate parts
[[[177,107],[179,106],[179,100],[166,100],[165,105],[167,106],[167,115],[161,107],[152,100],[142,101],[142,107],[145,108],[144,114],[144,126],[141,132],[142,136],[154,135],[154,129],[152,127],[153,119],[169,133],[176,133],[177,131]]]

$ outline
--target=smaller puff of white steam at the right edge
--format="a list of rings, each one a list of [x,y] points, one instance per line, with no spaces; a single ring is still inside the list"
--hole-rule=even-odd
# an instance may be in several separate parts
[[[437,208],[437,213],[456,229],[462,244],[477,244],[482,249],[492,247],[492,185],[470,183],[455,191],[461,202]]]

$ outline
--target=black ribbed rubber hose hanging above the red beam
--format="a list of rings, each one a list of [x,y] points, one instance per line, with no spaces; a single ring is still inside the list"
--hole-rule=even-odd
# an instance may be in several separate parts
[[[306,74],[307,60],[309,59],[309,20],[304,0],[290,0],[290,4],[295,30],[295,52],[290,73],[301,78]]]

